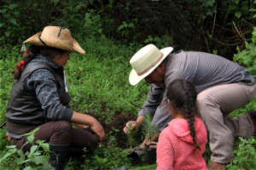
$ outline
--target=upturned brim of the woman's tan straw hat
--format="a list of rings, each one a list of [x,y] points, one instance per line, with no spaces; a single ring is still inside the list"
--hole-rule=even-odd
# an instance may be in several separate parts
[[[24,41],[23,43],[30,43],[32,45],[44,46],[44,43],[41,42],[38,38],[41,33],[42,33],[42,31],[36,33],[32,37],[29,37],[28,39],[26,39],[26,41]],[[73,46],[72,47],[67,47],[67,46],[61,44],[60,42],[59,43],[47,42],[45,40],[44,40],[44,42],[46,43],[47,46],[49,46],[51,48],[61,48],[63,50],[69,51],[69,52],[85,54],[84,49],[80,47],[79,42],[77,42],[75,39],[73,39]]]

